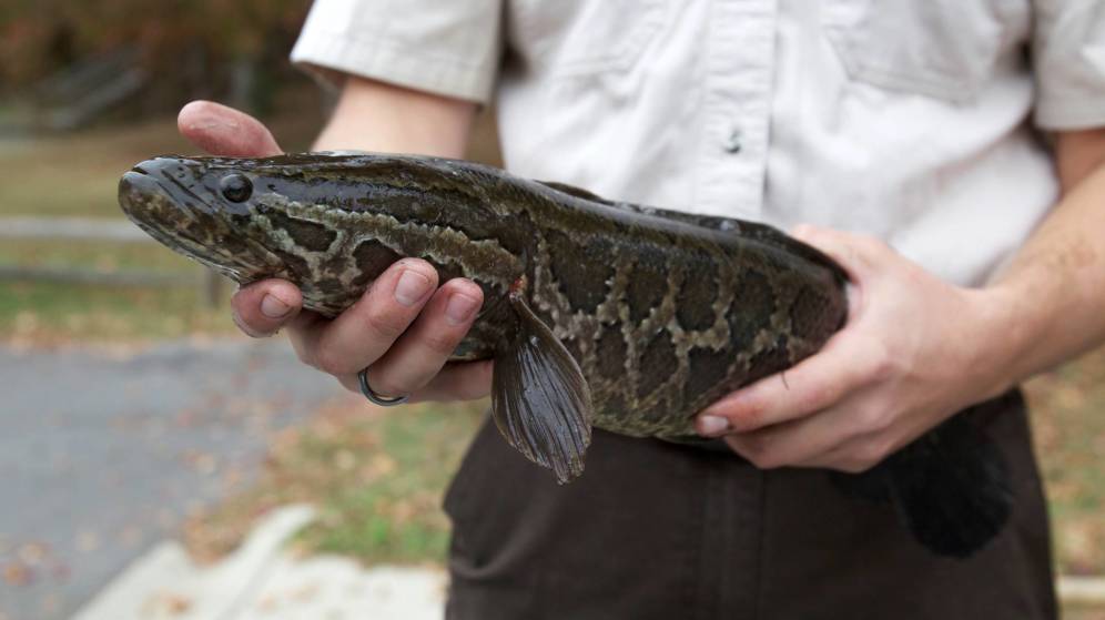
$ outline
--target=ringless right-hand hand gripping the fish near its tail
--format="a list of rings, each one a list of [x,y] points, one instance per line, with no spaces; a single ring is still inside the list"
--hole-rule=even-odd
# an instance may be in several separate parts
[[[758,467],[862,471],[955,411],[1010,385],[992,355],[996,299],[926,273],[882,242],[811,226],[794,232],[849,273],[850,316],[818,354],[708,407]]]

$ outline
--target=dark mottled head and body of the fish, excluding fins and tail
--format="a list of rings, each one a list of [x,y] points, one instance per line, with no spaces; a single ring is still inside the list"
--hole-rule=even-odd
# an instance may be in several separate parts
[[[234,203],[231,174],[253,192]],[[404,256],[485,304],[454,359],[493,357],[534,313],[576,358],[594,424],[633,436],[693,435],[693,414],[818,350],[844,322],[844,276],[761,224],[604,201],[456,160],[305,154],[158,157],[121,183],[143,230],[236,282],[282,277],[333,316]]]

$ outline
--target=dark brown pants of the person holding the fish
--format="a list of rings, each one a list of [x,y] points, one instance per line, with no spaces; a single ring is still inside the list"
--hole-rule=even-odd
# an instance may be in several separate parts
[[[1005,451],[1016,505],[966,560],[933,556],[889,504],[824,471],[596,431],[587,471],[559,487],[485,424],[445,499],[447,618],[1055,618],[1024,400],[971,415]]]

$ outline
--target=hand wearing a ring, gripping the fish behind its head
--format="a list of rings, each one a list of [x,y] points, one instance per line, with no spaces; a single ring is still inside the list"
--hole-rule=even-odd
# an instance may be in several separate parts
[[[185,105],[178,124],[185,138],[215,155],[281,153],[261,122],[216,103]],[[381,395],[454,400],[489,392],[490,363],[446,364],[483,304],[483,292],[468,279],[438,286],[429,263],[405,258],[332,321],[302,311],[302,304],[298,288],[280,279],[244,286],[232,299],[234,322],[243,332],[263,337],[287,327],[300,359],[351,390],[359,390],[356,375],[371,366],[372,388]]]

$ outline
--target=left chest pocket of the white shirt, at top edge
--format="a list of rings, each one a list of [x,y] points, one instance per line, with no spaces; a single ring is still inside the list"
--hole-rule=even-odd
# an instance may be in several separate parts
[[[663,0],[513,0],[511,48],[550,77],[632,69],[663,26]]]

